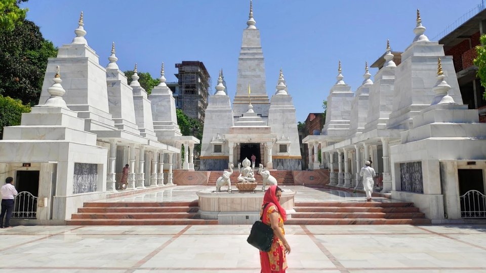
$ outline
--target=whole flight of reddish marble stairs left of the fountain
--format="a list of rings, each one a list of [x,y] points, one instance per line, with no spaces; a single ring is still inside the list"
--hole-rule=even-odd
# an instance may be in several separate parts
[[[176,225],[217,224],[199,217],[197,201],[192,202],[88,202],[69,225]]]

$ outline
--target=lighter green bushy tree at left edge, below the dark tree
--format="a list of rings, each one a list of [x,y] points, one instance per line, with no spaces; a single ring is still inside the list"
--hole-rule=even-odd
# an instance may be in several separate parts
[[[0,139],[3,139],[5,126],[20,125],[22,113],[29,112],[29,105],[22,105],[20,100],[0,95]]]

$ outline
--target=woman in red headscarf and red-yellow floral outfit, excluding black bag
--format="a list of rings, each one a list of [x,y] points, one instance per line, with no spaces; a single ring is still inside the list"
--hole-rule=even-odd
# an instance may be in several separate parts
[[[273,185],[263,197],[260,215],[263,215],[263,223],[272,227],[273,242],[269,252],[260,251],[261,273],[285,273],[287,269],[285,254],[290,253],[290,246],[285,239],[284,222],[287,220],[287,214],[280,206],[281,196],[282,190]]]

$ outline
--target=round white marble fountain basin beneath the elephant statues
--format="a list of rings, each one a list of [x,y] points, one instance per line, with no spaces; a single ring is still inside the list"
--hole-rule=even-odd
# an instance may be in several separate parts
[[[225,187],[226,188],[226,187]],[[203,219],[217,219],[219,224],[253,224],[260,219],[263,202],[262,190],[253,192],[215,192],[202,190],[196,192],[199,197],[199,213]],[[280,205],[286,210],[288,218],[295,212],[294,197],[296,192],[282,189]]]

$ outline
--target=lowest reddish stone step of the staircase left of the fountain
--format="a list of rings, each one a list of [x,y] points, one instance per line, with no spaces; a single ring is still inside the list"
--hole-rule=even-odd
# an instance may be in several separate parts
[[[218,224],[218,220],[205,219],[71,219],[68,225],[188,225]]]

